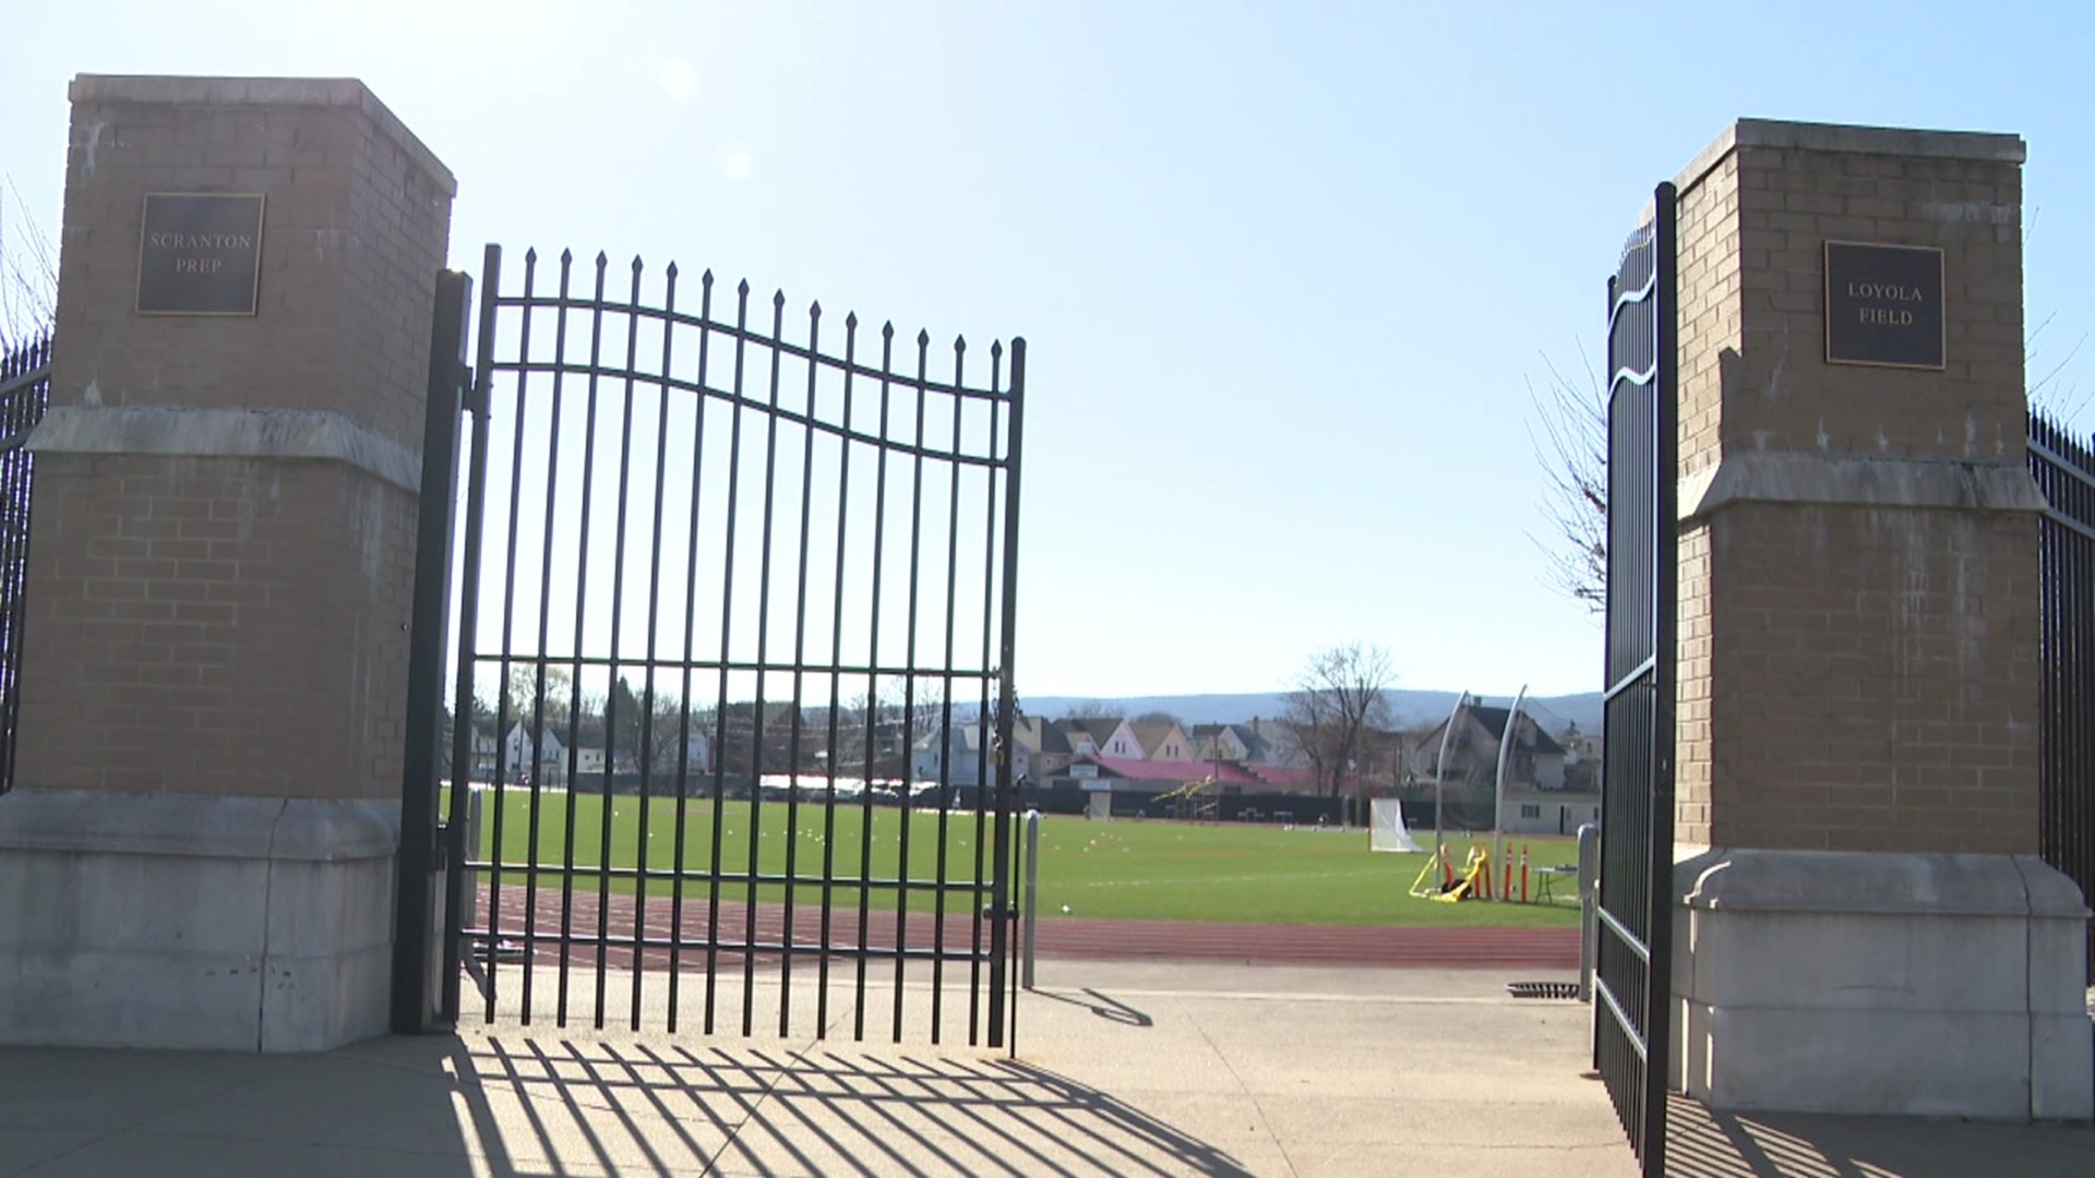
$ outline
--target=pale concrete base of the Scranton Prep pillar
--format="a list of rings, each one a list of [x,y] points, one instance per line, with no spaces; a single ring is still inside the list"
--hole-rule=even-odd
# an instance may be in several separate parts
[[[383,1033],[398,826],[377,801],[0,797],[0,1044]]]

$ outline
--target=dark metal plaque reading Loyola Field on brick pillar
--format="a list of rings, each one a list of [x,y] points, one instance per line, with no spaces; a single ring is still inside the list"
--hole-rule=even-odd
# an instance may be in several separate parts
[[[1942,367],[1942,249],[1827,241],[1827,363]]]

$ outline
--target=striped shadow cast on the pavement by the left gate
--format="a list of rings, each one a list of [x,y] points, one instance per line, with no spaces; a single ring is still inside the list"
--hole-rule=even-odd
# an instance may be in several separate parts
[[[991,1054],[706,1046],[501,1027],[444,1040],[490,1174],[1249,1174],[1054,1071]]]

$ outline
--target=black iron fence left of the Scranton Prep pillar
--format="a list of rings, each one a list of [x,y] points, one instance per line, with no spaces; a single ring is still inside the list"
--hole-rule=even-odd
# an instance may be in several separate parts
[[[29,430],[50,407],[50,335],[0,354],[0,794],[15,788],[21,639],[29,579]]]

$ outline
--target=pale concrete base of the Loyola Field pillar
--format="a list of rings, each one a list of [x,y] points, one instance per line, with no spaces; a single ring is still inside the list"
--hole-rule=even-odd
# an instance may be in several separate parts
[[[1714,1109],[2095,1117],[2080,889],[2034,855],[1674,868],[1672,1084]]]

